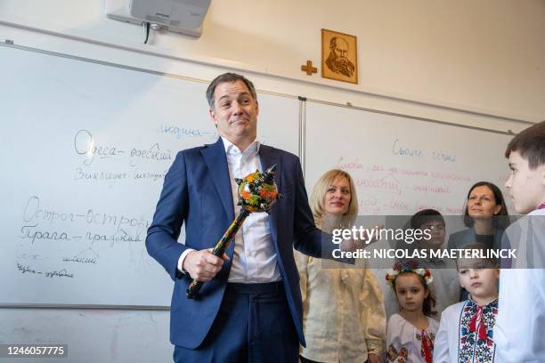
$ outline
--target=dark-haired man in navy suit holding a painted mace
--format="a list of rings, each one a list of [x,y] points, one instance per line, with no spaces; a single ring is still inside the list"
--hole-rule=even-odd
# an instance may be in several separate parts
[[[208,86],[207,100],[220,137],[178,153],[146,238],[149,254],[175,282],[175,361],[297,362],[305,338],[292,247],[321,257],[327,235],[314,225],[299,159],[256,140],[254,85],[226,73]],[[240,212],[233,179],[275,164],[283,198],[271,214],[250,214],[223,258],[211,254]],[[185,245],[177,243],[183,223]],[[185,296],[191,278],[206,281],[195,300]]]

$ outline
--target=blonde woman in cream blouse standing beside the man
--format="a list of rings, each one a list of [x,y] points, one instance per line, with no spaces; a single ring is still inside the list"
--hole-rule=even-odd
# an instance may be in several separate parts
[[[348,227],[358,214],[354,181],[342,170],[324,173],[314,186],[314,222],[330,232]],[[362,263],[327,262],[296,252],[303,298],[306,348],[302,362],[381,362],[386,340],[384,297]],[[334,268],[330,268],[333,266]]]

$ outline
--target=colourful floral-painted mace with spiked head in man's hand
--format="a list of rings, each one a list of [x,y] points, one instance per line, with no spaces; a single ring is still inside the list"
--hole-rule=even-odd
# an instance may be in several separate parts
[[[269,213],[271,206],[273,206],[277,199],[281,198],[274,182],[275,171],[276,165],[273,165],[264,173],[259,173],[259,170],[256,170],[256,173],[250,173],[244,179],[235,178],[235,182],[239,185],[238,205],[242,207],[242,210],[232,221],[231,226],[225,230],[224,236],[217,242],[212,250],[212,254],[221,258],[225,250],[231,245],[232,239],[237,234],[246,217],[254,212]],[[187,298],[194,299],[197,297],[203,284],[204,282],[193,279],[185,293]]]

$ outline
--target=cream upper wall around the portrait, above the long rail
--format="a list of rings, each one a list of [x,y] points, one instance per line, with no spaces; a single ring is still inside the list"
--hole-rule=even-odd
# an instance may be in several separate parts
[[[199,39],[164,33],[152,35],[150,45],[140,44],[140,27],[106,19],[102,2],[95,0],[79,0],[77,5],[68,0],[4,0],[0,20],[94,42],[328,85],[294,87],[282,82],[290,92],[300,90],[297,93],[308,97],[350,101],[362,107],[392,108],[383,100],[357,91],[530,121],[543,118],[542,1],[465,0],[452,4],[352,0],[342,4],[330,8],[329,2],[310,0],[215,1]],[[307,59],[319,63],[320,28],[358,36],[361,85],[321,80],[317,75],[307,77],[298,70]],[[71,45],[62,48],[65,52],[83,51]],[[92,52],[101,58],[109,57],[109,53],[103,49]],[[118,52],[113,57],[117,58]],[[158,62],[152,60],[150,64],[156,66]],[[338,92],[338,87],[353,92]]]

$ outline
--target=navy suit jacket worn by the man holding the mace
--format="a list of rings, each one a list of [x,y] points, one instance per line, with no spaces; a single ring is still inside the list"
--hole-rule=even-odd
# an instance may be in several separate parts
[[[305,345],[303,306],[293,246],[304,254],[321,257],[321,240],[328,235],[314,225],[298,157],[266,145],[260,146],[259,157],[263,170],[278,165],[274,179],[283,198],[271,209],[271,234],[289,310],[299,341]],[[165,177],[146,238],[148,253],[175,282],[170,312],[170,341],[175,345],[197,348],[207,336],[222,303],[234,243],[226,252],[231,260],[224,262],[216,278],[204,284],[199,299],[185,297],[191,279],[176,269],[178,259],[188,247],[201,250],[215,246],[234,217],[222,139],[179,152]],[[183,223],[185,246],[177,242]],[[328,246],[328,250],[332,248]]]

